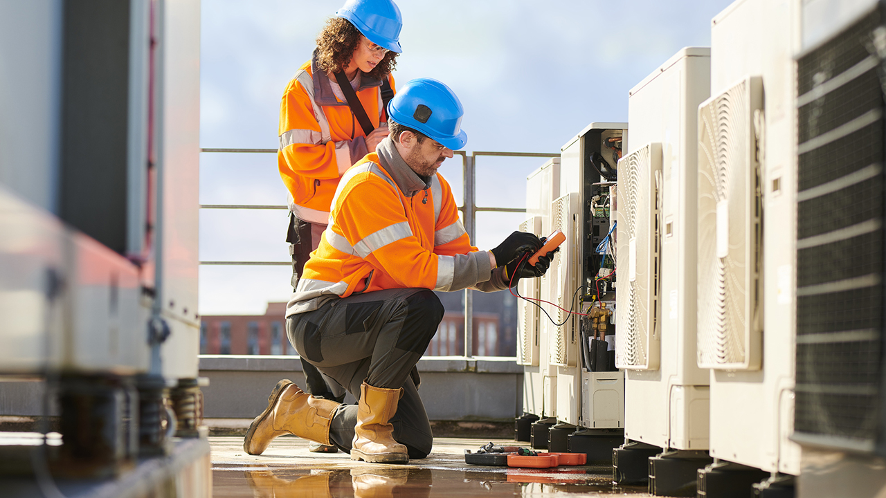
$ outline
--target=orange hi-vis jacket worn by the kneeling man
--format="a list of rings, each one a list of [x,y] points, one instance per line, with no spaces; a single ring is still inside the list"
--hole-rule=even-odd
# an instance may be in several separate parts
[[[502,270],[493,270],[489,254],[470,245],[443,176],[416,175],[385,138],[342,177],[329,226],[286,316],[356,292],[501,291],[508,288]]]

